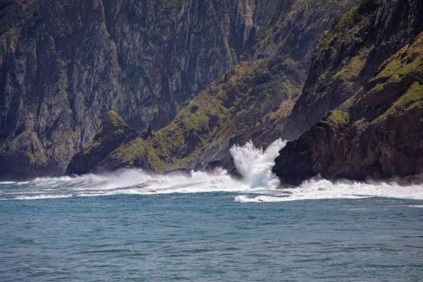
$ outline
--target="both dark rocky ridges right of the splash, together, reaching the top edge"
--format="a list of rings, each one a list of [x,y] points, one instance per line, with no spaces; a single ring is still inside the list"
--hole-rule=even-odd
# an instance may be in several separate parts
[[[422,1],[374,4],[341,18],[315,52],[293,113],[312,122],[343,104],[281,150],[274,172],[286,183],[423,173]]]

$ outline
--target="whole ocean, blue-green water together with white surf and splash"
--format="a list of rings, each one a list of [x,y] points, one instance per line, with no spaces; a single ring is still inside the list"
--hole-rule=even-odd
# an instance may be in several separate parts
[[[278,188],[285,142],[223,169],[0,183],[0,281],[422,281],[423,185]]]

